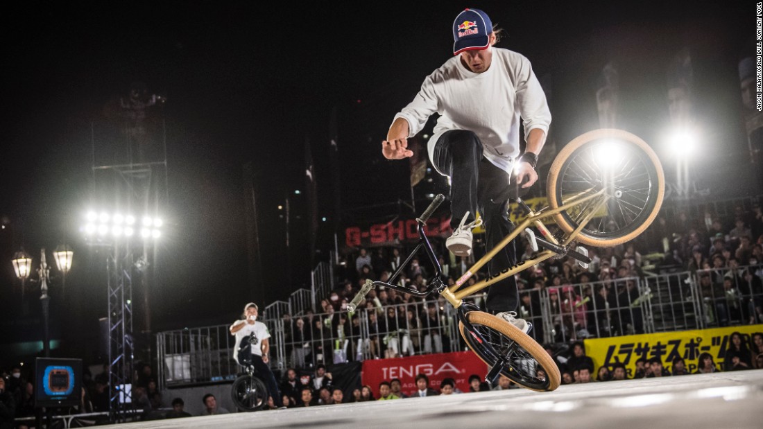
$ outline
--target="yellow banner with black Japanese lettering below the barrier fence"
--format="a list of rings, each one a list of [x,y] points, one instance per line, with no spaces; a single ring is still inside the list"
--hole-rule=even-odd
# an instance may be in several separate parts
[[[713,355],[716,367],[723,370],[723,358],[729,348],[729,336],[733,332],[739,332],[747,344],[752,344],[752,334],[763,332],[763,325],[589,339],[584,341],[585,354],[594,360],[596,370],[599,367],[611,367],[613,363],[623,363],[629,377],[633,377],[636,360],[641,357],[659,357],[666,370],[671,370],[674,358],[683,357],[687,369],[694,373],[697,370],[697,360],[704,352]]]

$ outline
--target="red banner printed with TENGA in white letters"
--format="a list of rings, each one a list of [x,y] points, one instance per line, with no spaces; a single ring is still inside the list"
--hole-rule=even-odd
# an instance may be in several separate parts
[[[362,383],[369,386],[376,398],[379,397],[379,383],[400,379],[403,393],[411,395],[416,389],[417,374],[426,374],[430,387],[439,392],[439,383],[448,377],[456,380],[456,388],[469,391],[469,376],[477,374],[485,378],[488,367],[471,351],[453,353],[422,354],[419,356],[397,357],[363,361]]]

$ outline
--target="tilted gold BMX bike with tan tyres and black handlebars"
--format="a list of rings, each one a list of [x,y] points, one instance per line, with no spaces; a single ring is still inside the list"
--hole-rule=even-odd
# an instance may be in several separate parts
[[[559,369],[540,344],[504,319],[483,312],[464,299],[549,258],[568,256],[587,267],[591,259],[578,243],[609,247],[634,239],[657,216],[665,194],[665,175],[655,152],[638,136],[623,130],[594,130],[573,139],[559,152],[549,171],[546,193],[548,206],[537,212],[517,198],[526,213],[524,219],[452,286],[444,283],[424,233],[427,219],[445,200],[442,194],[437,195],[417,218],[420,242],[414,251],[388,282],[367,280],[347,309],[354,311],[374,287],[388,287],[418,297],[438,293],[458,310],[459,331],[468,347],[488,365],[485,376],[488,383],[503,375],[527,389],[539,392],[556,389],[561,381]],[[542,223],[549,219],[558,226],[554,232]],[[536,236],[534,229],[541,236]],[[465,287],[469,277],[520,234],[533,247],[529,259]],[[394,284],[421,248],[434,267],[427,290]],[[540,369],[545,376],[539,373]]]

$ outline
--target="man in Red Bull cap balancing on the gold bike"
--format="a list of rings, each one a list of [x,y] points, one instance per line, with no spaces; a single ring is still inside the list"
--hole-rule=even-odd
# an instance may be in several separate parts
[[[446,246],[456,256],[468,256],[472,229],[483,221],[488,249],[513,229],[507,215],[510,184],[516,190],[517,184],[526,188],[538,180],[535,166],[551,113],[530,61],[493,46],[501,30],[494,30],[485,12],[462,11],[452,30],[455,56],[427,76],[414,101],[395,115],[381,152],[388,159],[412,156],[407,139],[422,130],[430,115],[440,115],[427,149],[436,170],[451,182],[453,235]],[[520,120],[526,139],[522,155]],[[475,220],[478,210],[481,219]],[[496,276],[516,263],[511,242],[492,258],[489,274]],[[526,332],[527,323],[514,317],[518,303],[513,276],[488,289],[488,311]]]

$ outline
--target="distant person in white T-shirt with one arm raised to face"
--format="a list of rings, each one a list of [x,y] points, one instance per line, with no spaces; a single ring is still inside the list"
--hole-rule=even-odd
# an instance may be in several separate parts
[[[264,323],[257,322],[257,305],[255,303],[246,304],[243,307],[241,319],[230,325],[230,334],[236,336],[236,345],[233,350],[233,359],[236,360],[236,363],[242,364],[238,360],[238,350],[241,347],[241,340],[248,337],[251,333],[254,333],[257,338],[257,342],[252,344],[252,365],[268,386],[268,392],[272,396],[275,406],[282,408],[281,392],[278,391],[278,383],[275,383],[275,376],[273,376],[273,372],[268,366],[270,331],[268,331],[268,327]]]

